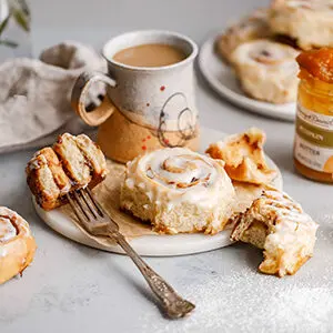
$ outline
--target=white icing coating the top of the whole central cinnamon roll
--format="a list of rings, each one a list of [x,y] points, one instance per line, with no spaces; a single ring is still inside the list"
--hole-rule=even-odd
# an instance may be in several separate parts
[[[125,185],[138,185],[151,202],[169,208],[180,202],[213,208],[224,195],[234,196],[222,161],[183,148],[158,150],[128,163]]]

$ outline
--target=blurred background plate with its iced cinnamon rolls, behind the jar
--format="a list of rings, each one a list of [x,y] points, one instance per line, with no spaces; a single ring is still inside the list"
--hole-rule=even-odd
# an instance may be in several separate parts
[[[330,0],[273,0],[209,39],[199,64],[210,85],[231,102],[294,121],[301,50],[333,47]]]

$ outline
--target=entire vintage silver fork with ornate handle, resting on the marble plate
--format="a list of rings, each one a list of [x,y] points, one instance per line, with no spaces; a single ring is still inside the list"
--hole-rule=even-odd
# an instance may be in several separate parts
[[[88,188],[68,193],[67,199],[80,224],[88,233],[94,236],[113,239],[132,259],[169,317],[182,317],[194,310],[194,304],[178,295],[173,287],[155,273],[132,249],[125,238],[119,232],[119,225],[102,209]]]

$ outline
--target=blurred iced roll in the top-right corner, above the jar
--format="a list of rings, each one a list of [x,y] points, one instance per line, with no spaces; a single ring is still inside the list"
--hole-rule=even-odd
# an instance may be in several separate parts
[[[332,0],[275,0],[270,28],[287,36],[303,49],[333,47]]]

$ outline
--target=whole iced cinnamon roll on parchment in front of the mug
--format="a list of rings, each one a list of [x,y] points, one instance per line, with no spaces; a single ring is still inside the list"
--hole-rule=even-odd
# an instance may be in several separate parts
[[[165,148],[128,163],[120,205],[161,233],[214,234],[230,219],[234,198],[222,161]]]

